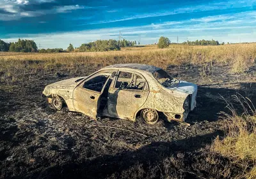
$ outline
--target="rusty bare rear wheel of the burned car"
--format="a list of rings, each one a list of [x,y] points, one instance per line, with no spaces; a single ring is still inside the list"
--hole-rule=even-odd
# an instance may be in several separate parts
[[[157,111],[151,108],[141,110],[140,115],[143,119],[143,122],[151,125],[156,124],[159,119]]]

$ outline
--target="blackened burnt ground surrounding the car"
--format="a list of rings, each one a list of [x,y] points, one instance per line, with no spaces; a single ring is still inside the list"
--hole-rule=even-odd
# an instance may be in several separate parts
[[[80,113],[51,110],[41,97],[45,85],[74,75],[60,78],[52,73],[17,83],[12,92],[1,90],[0,178],[234,177],[239,167],[213,154],[209,145],[223,136],[219,113],[227,108],[220,95],[230,99],[239,92],[255,101],[255,69],[243,75],[217,65],[213,71],[202,72],[198,66],[168,70],[198,84],[198,106],[187,120],[190,127],[164,120],[146,125],[140,118],[96,122]]]

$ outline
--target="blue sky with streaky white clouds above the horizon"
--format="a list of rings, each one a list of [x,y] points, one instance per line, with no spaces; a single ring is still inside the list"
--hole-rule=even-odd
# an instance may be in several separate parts
[[[79,47],[97,39],[157,43],[256,41],[256,0],[0,0],[0,39],[38,48]],[[177,38],[178,37],[178,38]]]

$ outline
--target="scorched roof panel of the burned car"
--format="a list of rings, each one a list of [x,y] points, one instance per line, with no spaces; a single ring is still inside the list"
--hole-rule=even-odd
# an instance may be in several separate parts
[[[151,66],[147,64],[113,64],[110,66],[106,66],[103,69],[107,68],[129,68],[129,69],[140,69],[143,71],[149,71],[151,73],[154,73],[155,71],[161,69],[156,66]]]

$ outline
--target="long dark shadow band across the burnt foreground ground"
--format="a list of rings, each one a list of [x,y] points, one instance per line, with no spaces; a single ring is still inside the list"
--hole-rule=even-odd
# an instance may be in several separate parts
[[[204,136],[186,138],[172,142],[152,142],[145,147],[135,151],[125,151],[117,155],[102,155],[95,159],[83,162],[67,162],[61,166],[52,166],[42,171],[37,171],[26,178],[106,178],[115,173],[116,176],[122,171],[131,168],[136,164],[157,165],[174,154],[180,152],[193,152],[198,148],[212,142],[214,137],[222,135],[223,132],[216,131]],[[189,159],[189,162],[193,162]],[[187,177],[189,177],[188,175]]]

